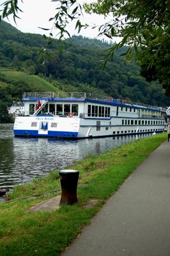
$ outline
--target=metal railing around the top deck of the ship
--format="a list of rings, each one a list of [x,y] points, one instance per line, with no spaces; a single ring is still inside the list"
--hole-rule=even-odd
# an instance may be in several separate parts
[[[113,99],[112,97],[107,97],[105,95],[98,95],[95,93],[88,93],[88,92],[26,92],[23,94],[23,99],[30,99],[30,98],[65,98],[65,99],[93,99],[93,100],[100,100],[103,102],[112,102],[114,104],[122,104],[127,106],[135,106],[138,108],[147,108],[147,109],[154,109],[159,111],[166,111],[166,108],[160,108],[158,106],[152,106],[149,104],[143,104],[139,102],[133,102],[131,100],[126,99]]]

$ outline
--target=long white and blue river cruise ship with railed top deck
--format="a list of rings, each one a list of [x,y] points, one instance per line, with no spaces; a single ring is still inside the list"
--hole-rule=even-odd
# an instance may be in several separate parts
[[[164,132],[166,109],[84,92],[24,93],[15,136],[66,139]]]

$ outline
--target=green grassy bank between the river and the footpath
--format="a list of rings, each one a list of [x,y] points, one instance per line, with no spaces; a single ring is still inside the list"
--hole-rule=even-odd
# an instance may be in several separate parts
[[[72,169],[80,173],[79,202],[72,206],[63,205],[51,212],[27,211],[32,205],[61,193],[58,171],[15,188],[11,201],[0,204],[0,255],[59,255],[105,200],[166,138],[166,133],[144,138],[75,163]],[[90,205],[90,200],[97,200],[97,204]]]

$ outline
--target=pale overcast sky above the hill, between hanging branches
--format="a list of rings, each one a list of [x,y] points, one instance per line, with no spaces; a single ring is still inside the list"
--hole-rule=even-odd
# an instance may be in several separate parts
[[[79,3],[84,3],[84,0],[78,0]],[[6,22],[9,22],[10,24],[12,24],[12,26],[14,26],[15,28],[19,29],[22,32],[25,33],[36,33],[36,34],[45,34],[45,35],[49,35],[50,30],[49,31],[45,31],[43,29],[40,28],[48,28],[51,29],[53,22],[50,21],[49,19],[51,17],[54,17],[54,15],[56,14],[56,4],[58,2],[51,2],[50,0],[20,0],[19,1],[19,7],[22,10],[22,12],[19,12],[19,17],[20,19],[16,19],[17,21],[17,25],[15,24],[15,22],[13,21],[12,16],[10,17],[9,20],[6,20]],[[102,15],[88,15],[86,13],[84,13],[82,22],[88,23],[91,26],[93,26],[93,24],[97,24],[98,26],[100,26],[101,24],[105,23],[105,18]],[[70,35],[77,35],[77,31],[75,31],[75,26],[73,26],[73,24],[70,24],[68,26],[68,32],[70,33]],[[52,35],[56,36],[56,31],[54,29],[54,31],[52,31]],[[88,28],[88,29],[82,29],[81,33],[79,33],[79,35],[82,36],[86,36],[88,38],[98,38],[99,40],[102,40],[104,38],[104,40],[107,40],[109,42],[111,42],[111,40],[106,37],[97,37],[98,35],[98,30],[97,29],[92,29],[92,28]],[[114,40],[112,40],[113,42],[115,42],[115,40],[117,41],[116,38],[114,38]]]

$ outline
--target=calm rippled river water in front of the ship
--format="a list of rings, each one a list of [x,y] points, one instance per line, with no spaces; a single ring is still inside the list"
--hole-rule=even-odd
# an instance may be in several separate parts
[[[101,154],[137,136],[115,138],[56,140],[15,138],[13,124],[0,124],[0,188],[10,188],[34,177],[62,170],[88,154]]]

